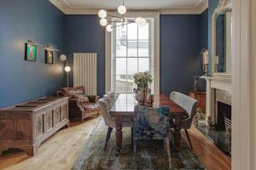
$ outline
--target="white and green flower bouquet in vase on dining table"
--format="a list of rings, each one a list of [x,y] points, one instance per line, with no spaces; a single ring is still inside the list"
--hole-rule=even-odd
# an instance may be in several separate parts
[[[135,94],[135,99],[137,99],[139,105],[145,105],[145,99],[147,98],[147,103],[151,103],[151,90],[148,90],[148,85],[153,81],[152,76],[149,71],[137,72],[133,75],[134,83],[137,84],[137,89],[133,90]],[[147,95],[146,95],[146,92]],[[149,96],[150,95],[150,98]],[[149,101],[150,99],[150,101]]]

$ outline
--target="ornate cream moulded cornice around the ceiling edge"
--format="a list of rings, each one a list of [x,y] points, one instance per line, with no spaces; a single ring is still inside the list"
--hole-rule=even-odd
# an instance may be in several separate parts
[[[59,8],[64,14],[97,14],[99,8],[71,8],[65,0],[49,0],[55,7]],[[160,14],[201,14],[208,8],[208,0],[201,0],[193,7],[180,8],[160,8],[160,9],[133,9],[129,11],[160,12]],[[108,10],[114,11],[114,10]]]

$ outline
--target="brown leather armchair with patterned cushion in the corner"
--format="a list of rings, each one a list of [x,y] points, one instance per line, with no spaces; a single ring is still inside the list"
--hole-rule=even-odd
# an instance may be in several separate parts
[[[56,92],[57,96],[67,96],[68,118],[70,121],[81,121],[90,116],[98,116],[101,111],[97,104],[99,96],[87,95],[85,87],[61,88]]]

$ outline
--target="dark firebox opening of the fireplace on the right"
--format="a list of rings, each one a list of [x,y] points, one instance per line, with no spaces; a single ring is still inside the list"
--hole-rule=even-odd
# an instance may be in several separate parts
[[[231,121],[231,105],[225,104],[223,102],[217,102],[217,113],[218,121],[216,124],[216,129],[219,131],[224,131],[225,129],[225,118],[227,121]]]

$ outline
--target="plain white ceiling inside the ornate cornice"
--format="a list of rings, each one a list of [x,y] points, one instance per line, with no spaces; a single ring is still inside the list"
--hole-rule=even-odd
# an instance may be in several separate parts
[[[69,8],[118,8],[122,0],[61,0]],[[201,0],[125,0],[126,8],[184,8],[195,7]]]

